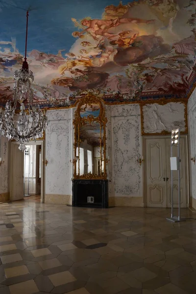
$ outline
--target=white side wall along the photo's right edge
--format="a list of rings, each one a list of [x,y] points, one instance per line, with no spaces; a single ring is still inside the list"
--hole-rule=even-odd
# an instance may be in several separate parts
[[[189,164],[190,164],[190,204],[196,209],[196,165],[191,157],[196,158],[196,90],[188,101],[188,127],[189,127]]]

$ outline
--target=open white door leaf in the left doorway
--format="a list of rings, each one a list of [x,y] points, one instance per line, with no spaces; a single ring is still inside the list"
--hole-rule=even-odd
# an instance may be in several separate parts
[[[11,201],[24,198],[24,152],[19,145],[11,145]]]

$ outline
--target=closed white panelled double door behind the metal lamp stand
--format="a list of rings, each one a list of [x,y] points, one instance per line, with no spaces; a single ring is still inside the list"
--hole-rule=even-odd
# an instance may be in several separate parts
[[[173,147],[177,156],[177,147]],[[145,194],[147,207],[171,207],[171,139],[145,138]],[[181,207],[187,207],[187,150],[186,138],[180,139],[180,196]],[[173,171],[173,204],[178,206],[178,171]]]

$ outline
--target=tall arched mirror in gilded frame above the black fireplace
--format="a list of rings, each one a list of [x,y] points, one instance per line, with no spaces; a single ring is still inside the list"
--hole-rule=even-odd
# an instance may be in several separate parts
[[[74,178],[106,179],[107,119],[102,99],[92,94],[81,98],[73,123]]]

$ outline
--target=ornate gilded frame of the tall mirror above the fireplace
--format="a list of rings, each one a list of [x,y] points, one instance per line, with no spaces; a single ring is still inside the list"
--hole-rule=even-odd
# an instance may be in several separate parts
[[[91,106],[93,104],[99,105],[100,112],[97,117],[94,117],[92,115],[88,115],[86,117],[81,117],[80,112],[82,106]],[[86,123],[99,123],[100,124],[100,154],[103,154],[103,172],[102,172],[102,161],[100,160],[100,175],[95,173],[85,173],[85,174],[79,174],[79,153],[78,156],[76,154],[76,148],[80,147],[81,139],[80,139],[80,127],[82,125],[85,125]],[[107,118],[105,115],[105,108],[103,106],[103,100],[91,93],[88,93],[84,97],[79,99],[79,102],[77,102],[77,109],[75,111],[75,116],[73,120],[74,125],[74,173],[73,178],[74,179],[107,179],[107,173],[106,173],[106,123]],[[101,136],[103,129],[103,136]],[[103,148],[103,151],[102,151]],[[101,157],[101,156],[100,156]],[[76,170],[76,163],[78,161],[78,171]]]

